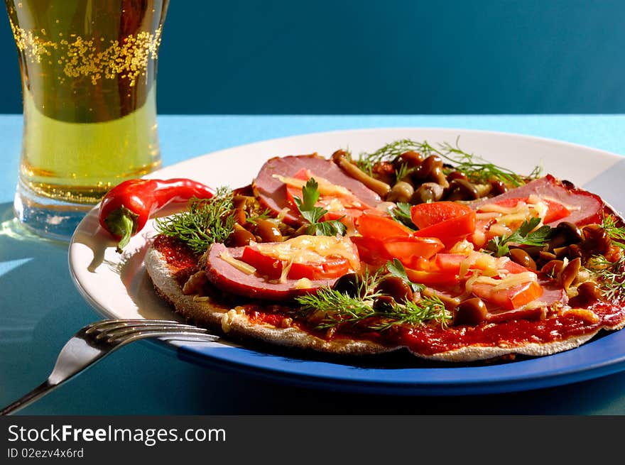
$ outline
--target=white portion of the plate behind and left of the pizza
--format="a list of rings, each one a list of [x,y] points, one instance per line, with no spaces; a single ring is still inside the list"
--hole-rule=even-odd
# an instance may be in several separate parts
[[[552,173],[576,185],[593,185],[595,191],[603,191],[597,193],[609,202],[619,201],[618,192],[611,190],[614,185],[602,182],[602,177],[611,173],[610,168],[615,165],[621,168],[619,162],[623,159],[619,155],[545,138],[448,128],[379,128],[280,138],[192,158],[163,168],[150,177],[191,177],[213,187],[240,187],[249,184],[261,165],[274,156],[313,152],[329,156],[338,148],[349,148],[356,155],[402,138],[428,141],[433,145],[457,141],[464,151],[481,155],[520,174],[528,174],[535,165],[540,165],[543,173]],[[70,244],[70,271],[78,290],[102,316],[176,317],[153,292],[143,268],[146,239],[153,234],[150,221],[120,255],[115,251],[114,241],[99,227],[97,208],[77,227]],[[172,349],[176,346],[168,344]]]

